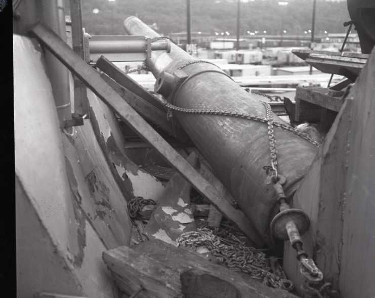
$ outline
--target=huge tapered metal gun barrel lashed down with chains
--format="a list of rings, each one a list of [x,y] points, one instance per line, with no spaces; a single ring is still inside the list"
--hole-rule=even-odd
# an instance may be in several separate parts
[[[124,28],[129,34],[159,37],[136,17],[127,18]],[[199,60],[171,44],[170,53],[153,51],[146,64],[157,79],[156,84],[176,74],[176,70],[186,73],[187,78],[185,76],[183,83],[168,92],[174,95],[169,100],[173,100],[176,106],[266,117],[265,106],[220,68],[196,61]],[[272,184],[266,184],[264,166],[271,164],[267,123],[237,117],[176,112],[173,112],[173,117],[190,136],[265,242],[274,247],[270,221],[279,206]],[[273,115],[273,120],[284,123],[276,115]],[[286,177],[283,187],[286,197],[290,199],[312,163],[317,147],[290,131],[276,127],[274,130],[278,172]]]

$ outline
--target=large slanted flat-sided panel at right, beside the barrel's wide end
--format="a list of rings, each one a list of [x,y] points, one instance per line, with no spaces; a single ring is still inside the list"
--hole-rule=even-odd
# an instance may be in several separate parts
[[[375,292],[375,51],[349,92],[317,158],[294,196],[310,217],[304,248],[341,297]],[[284,270],[299,280],[295,251],[285,242]],[[298,289],[299,283],[296,282]]]

